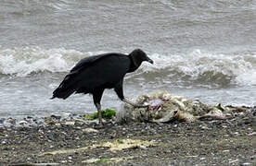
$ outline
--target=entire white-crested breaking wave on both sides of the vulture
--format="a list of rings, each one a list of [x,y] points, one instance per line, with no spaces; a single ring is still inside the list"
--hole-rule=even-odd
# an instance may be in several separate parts
[[[45,50],[39,47],[3,49],[0,47],[0,74],[26,77],[39,72],[68,72],[85,56],[105,52],[82,53],[64,48]],[[128,76],[151,77],[165,81],[188,81],[204,84],[256,85],[256,53],[184,54],[148,53],[154,65],[144,63]],[[142,76],[141,76],[142,75]]]

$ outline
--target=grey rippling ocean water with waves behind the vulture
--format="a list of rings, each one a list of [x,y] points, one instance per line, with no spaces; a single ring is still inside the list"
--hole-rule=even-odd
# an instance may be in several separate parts
[[[251,0],[0,0],[0,117],[96,112],[90,95],[49,98],[83,57],[135,48],[155,64],[125,77],[127,98],[254,106],[255,31]],[[122,102],[108,89],[102,105]]]

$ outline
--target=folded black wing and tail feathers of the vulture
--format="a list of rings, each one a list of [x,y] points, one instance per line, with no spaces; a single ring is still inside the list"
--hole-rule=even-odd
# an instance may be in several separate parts
[[[106,53],[83,58],[71,70],[53,98],[68,98],[73,92],[92,93],[96,89],[111,89],[120,82],[131,65],[122,53]]]

